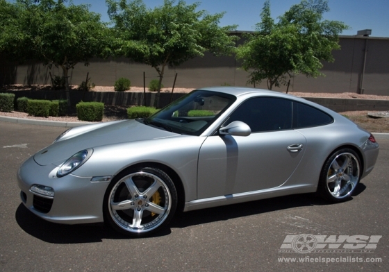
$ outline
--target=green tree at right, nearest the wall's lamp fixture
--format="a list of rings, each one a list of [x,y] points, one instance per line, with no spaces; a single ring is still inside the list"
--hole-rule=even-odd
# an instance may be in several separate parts
[[[327,1],[303,0],[274,22],[267,0],[262,21],[236,53],[242,69],[249,71],[249,83],[267,79],[267,88],[272,90],[285,85],[287,76],[324,76],[322,61],[334,61],[331,52],[340,49],[338,35],[348,28],[342,22],[322,20],[327,11]]]

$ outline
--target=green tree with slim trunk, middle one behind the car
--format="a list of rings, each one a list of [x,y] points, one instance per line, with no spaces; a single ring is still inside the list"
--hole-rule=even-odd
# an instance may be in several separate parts
[[[106,2],[119,40],[113,49],[116,56],[154,67],[159,75],[157,107],[167,65],[181,65],[204,56],[205,51],[218,56],[232,53],[235,48],[236,37],[229,35],[235,26],[218,26],[224,13],[197,11],[199,3],[187,5],[180,0],[174,5],[174,0],[165,0],[163,6],[151,10],[142,0]]]

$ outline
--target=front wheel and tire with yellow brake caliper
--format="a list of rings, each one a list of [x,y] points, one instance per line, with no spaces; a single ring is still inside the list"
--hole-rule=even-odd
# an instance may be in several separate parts
[[[129,237],[144,237],[165,228],[174,216],[177,192],[160,169],[129,169],[116,176],[104,196],[104,221]]]

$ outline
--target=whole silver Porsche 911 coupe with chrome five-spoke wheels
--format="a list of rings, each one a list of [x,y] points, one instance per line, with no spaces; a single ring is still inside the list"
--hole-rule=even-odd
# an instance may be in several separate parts
[[[179,209],[310,192],[346,201],[378,153],[372,134],[305,99],[210,87],[147,119],[67,130],[17,178],[22,202],[42,219],[104,221],[140,237]]]

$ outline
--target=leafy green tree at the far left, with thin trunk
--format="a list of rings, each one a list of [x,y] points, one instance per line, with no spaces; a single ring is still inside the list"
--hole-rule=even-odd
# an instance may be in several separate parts
[[[0,1],[3,6],[5,1]],[[61,67],[68,92],[69,69],[78,62],[88,65],[90,58],[101,56],[108,44],[108,28],[88,5],[65,2],[17,0],[13,6],[8,4],[15,15],[1,25],[4,34],[0,36],[0,50],[17,60],[40,60],[50,68]]]

